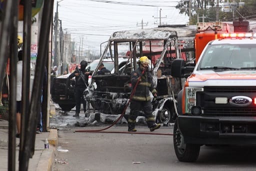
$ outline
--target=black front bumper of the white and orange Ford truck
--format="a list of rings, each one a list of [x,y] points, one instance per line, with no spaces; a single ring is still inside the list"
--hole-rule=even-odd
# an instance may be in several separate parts
[[[185,143],[256,144],[256,116],[178,116]]]

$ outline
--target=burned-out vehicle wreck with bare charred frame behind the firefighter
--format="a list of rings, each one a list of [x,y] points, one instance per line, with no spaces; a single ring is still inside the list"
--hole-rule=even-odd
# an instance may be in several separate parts
[[[106,53],[110,54],[114,62],[114,72],[100,75],[97,73],[98,65],[92,73],[92,83],[96,83],[96,89],[91,83],[84,92],[93,109],[106,114],[122,113],[132,90],[131,72],[138,67],[139,57],[147,56],[150,60],[149,71],[157,90],[156,99],[151,100],[153,115],[159,123],[173,122],[176,117],[175,97],[182,87],[181,79],[170,75],[171,63],[175,58],[180,58],[181,53],[177,32],[170,28],[117,31],[110,36],[99,63]],[[118,59],[123,55],[127,61],[119,68]],[[129,107],[125,111],[125,114],[128,113]],[[142,111],[140,115],[143,116]]]

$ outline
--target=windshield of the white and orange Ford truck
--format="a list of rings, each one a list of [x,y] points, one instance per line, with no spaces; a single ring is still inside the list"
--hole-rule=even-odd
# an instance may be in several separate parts
[[[255,44],[210,44],[198,69],[255,69]]]

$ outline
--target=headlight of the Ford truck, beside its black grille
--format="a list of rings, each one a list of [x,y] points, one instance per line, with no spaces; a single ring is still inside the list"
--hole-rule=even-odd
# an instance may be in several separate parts
[[[191,109],[196,105],[196,92],[203,91],[202,87],[185,87],[185,113],[191,113]]]

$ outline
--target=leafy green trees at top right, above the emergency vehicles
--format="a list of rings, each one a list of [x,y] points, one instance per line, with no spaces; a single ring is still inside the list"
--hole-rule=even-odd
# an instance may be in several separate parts
[[[179,13],[184,13],[189,16],[189,10],[191,12],[190,24],[196,24],[204,20],[216,21],[216,1],[217,0],[190,0],[191,8],[189,8],[189,0],[180,0],[176,5],[176,8],[179,9]],[[232,2],[233,0],[219,0],[219,21],[232,21],[237,20],[239,17],[246,19],[256,18],[256,1],[255,0],[245,0],[243,5],[238,5],[240,0],[234,0],[234,6],[230,3],[229,7],[230,12],[221,11],[222,2]],[[233,11],[232,11],[233,10]]]

